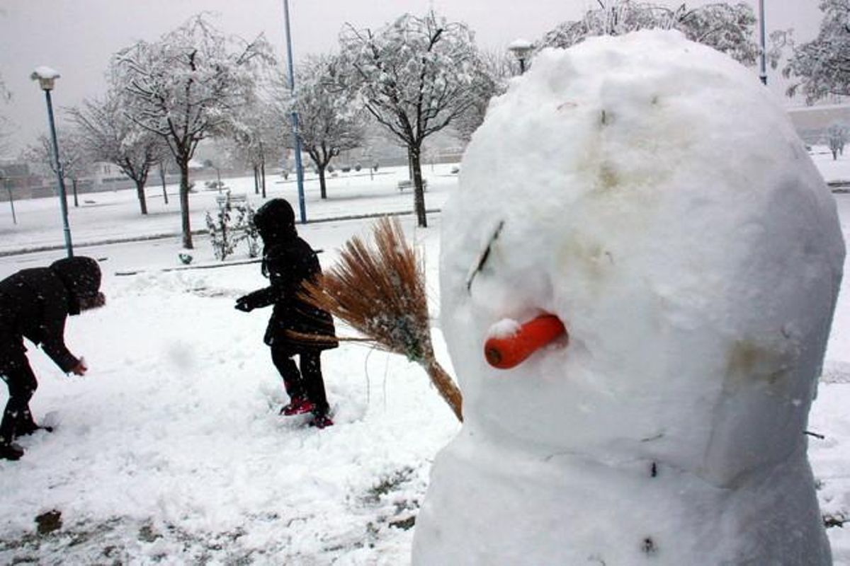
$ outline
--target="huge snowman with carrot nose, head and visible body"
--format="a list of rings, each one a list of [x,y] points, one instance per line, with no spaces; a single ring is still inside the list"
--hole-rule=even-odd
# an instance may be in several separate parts
[[[805,431],[844,245],[751,70],[675,31],[543,51],[442,224],[465,422],[416,566],[831,563]]]

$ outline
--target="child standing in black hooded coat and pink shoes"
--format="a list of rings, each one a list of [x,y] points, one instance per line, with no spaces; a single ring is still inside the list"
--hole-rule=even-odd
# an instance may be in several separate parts
[[[327,311],[302,300],[298,293],[305,281],[321,274],[316,252],[298,237],[295,213],[284,199],[272,199],[254,215],[263,238],[263,276],[269,286],[236,300],[240,311],[275,305],[263,341],[271,347],[271,359],[283,378],[289,404],[283,415],[312,412],[311,426],[324,429],[328,417],[320,354],[338,345],[333,319]],[[292,359],[297,354],[300,371]]]

